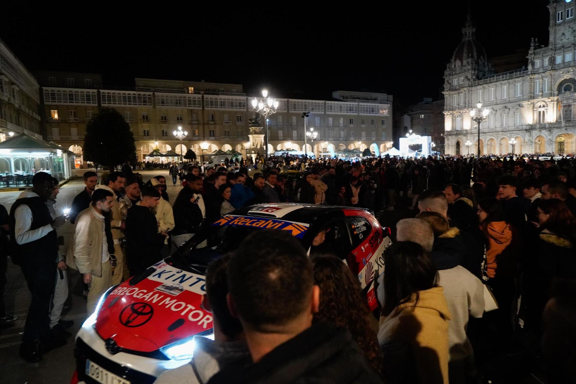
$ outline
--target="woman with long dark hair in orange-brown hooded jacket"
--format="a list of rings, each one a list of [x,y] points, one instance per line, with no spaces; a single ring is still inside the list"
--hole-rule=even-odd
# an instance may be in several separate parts
[[[498,309],[486,314],[498,335],[492,339],[507,348],[512,335],[512,302],[516,295],[516,262],[521,252],[520,233],[507,223],[502,205],[495,198],[478,202],[480,229],[486,239],[486,284],[492,288]]]

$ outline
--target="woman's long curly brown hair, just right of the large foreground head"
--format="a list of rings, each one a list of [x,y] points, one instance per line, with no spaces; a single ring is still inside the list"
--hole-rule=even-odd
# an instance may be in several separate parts
[[[376,333],[368,322],[370,310],[358,279],[337,257],[315,256],[312,263],[314,284],[322,292],[319,311],[314,314],[313,322],[326,321],[350,332],[370,366],[380,374],[382,354]]]

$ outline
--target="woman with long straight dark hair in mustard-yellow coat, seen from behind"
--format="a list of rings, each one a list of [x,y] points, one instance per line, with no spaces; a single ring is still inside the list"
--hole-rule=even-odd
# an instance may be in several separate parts
[[[378,343],[382,348],[407,343],[418,382],[448,383],[450,312],[430,254],[420,244],[397,242],[386,249],[384,262]],[[401,368],[406,367],[396,367]]]

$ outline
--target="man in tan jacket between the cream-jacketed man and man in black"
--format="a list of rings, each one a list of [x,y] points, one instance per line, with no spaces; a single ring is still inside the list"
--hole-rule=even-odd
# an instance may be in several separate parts
[[[112,197],[116,204],[112,206],[112,217],[110,219],[110,229],[112,232],[112,239],[114,240],[114,255],[116,256],[116,268],[112,274],[112,284],[120,284],[122,282],[122,269],[124,263],[124,254],[122,253],[122,238],[124,238],[123,229],[125,228],[124,221],[122,221],[122,212],[120,211],[120,204],[118,204],[118,192],[124,187],[124,174],[122,172],[111,172],[104,178],[104,183],[96,186],[98,189],[104,189],[112,193]]]

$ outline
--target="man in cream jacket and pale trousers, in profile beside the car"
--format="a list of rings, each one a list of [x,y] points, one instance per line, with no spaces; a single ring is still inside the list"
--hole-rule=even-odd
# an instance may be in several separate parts
[[[88,284],[86,311],[89,314],[94,312],[100,296],[114,285],[102,214],[110,212],[114,205],[118,205],[118,202],[111,191],[96,189],[92,194],[92,204],[76,218],[74,261],[83,275],[84,283]]]

